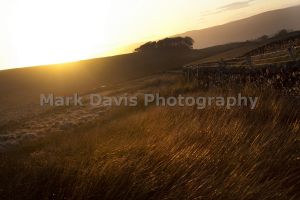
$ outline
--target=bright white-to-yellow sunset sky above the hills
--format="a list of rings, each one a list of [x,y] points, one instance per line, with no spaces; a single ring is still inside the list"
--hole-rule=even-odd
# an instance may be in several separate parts
[[[126,53],[130,44],[299,3],[299,0],[0,0],[0,69]]]

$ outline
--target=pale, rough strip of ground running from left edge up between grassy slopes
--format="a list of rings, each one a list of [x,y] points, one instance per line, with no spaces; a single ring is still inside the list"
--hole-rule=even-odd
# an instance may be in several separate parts
[[[181,75],[181,74],[180,74]],[[162,83],[161,77],[178,79],[178,73],[160,74],[128,81],[119,85],[101,88],[82,96],[101,94],[102,96],[136,95],[159,85],[171,84],[173,79]],[[0,151],[21,144],[24,141],[36,140],[51,133],[65,132],[85,124],[90,124],[103,116],[110,106],[69,106],[69,107],[41,107],[38,103],[1,107],[0,112]]]

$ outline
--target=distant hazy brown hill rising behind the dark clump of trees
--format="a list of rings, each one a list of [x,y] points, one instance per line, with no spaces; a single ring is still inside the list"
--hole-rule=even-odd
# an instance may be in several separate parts
[[[205,48],[231,42],[256,39],[272,35],[281,29],[299,30],[300,6],[268,11],[246,19],[202,30],[188,31],[177,36],[189,36],[194,47]]]

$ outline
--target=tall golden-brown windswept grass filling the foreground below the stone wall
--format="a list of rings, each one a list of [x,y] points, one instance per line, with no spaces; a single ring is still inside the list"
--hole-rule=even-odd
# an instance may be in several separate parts
[[[180,75],[111,91],[258,96],[259,105],[115,107],[0,154],[0,199],[300,198],[300,101],[248,84],[200,90]]]

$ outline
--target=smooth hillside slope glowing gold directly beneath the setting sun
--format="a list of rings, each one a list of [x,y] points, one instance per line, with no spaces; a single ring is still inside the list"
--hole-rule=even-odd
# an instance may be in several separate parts
[[[203,55],[201,55],[203,54]],[[208,55],[205,55],[208,56]],[[124,54],[74,63],[0,71],[0,112],[39,102],[41,93],[69,95],[128,81],[204,57],[204,53]],[[26,107],[28,107],[26,105]],[[18,108],[20,110],[20,108]],[[1,124],[1,119],[0,119]]]

